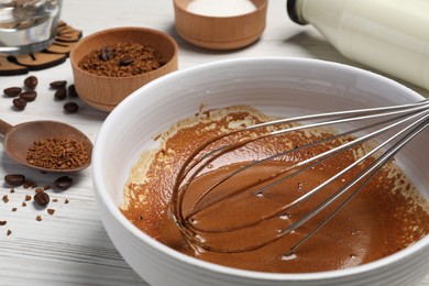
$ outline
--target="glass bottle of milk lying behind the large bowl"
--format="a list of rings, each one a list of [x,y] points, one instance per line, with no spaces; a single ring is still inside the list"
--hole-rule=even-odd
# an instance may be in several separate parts
[[[352,61],[429,89],[429,0],[288,0]]]

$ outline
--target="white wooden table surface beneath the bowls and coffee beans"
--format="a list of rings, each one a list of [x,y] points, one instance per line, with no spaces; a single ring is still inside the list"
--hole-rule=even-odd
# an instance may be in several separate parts
[[[128,25],[164,31],[179,44],[180,69],[219,59],[260,56],[309,57],[359,66],[340,55],[314,28],[294,24],[286,14],[285,0],[270,1],[262,38],[234,52],[205,51],[184,42],[175,32],[172,0],[64,1],[62,20],[82,30],[84,35]],[[107,113],[75,99],[80,105],[79,112],[65,114],[64,102],[54,100],[54,92],[48,88],[54,80],[73,82],[69,61],[30,75],[40,81],[37,99],[24,111],[15,111],[12,100],[0,95],[0,118],[11,124],[30,120],[65,121],[94,141]],[[0,77],[0,90],[22,86],[26,76]],[[429,96],[429,91],[410,87]],[[37,209],[32,201],[22,207],[25,195],[34,193],[20,187],[11,194],[2,178],[12,173],[24,174],[41,186],[58,177],[15,164],[0,145],[0,198],[9,197],[7,204],[0,200],[0,221],[8,221],[0,227],[0,285],[145,285],[117,252],[102,227],[94,198],[91,169],[73,175],[75,183],[68,190],[48,190],[51,199],[58,200],[50,204],[56,210],[53,216],[46,209]],[[13,207],[18,210],[12,211]],[[37,215],[42,221],[36,221]],[[7,230],[12,233],[7,235]],[[429,285],[429,276],[420,285]]]

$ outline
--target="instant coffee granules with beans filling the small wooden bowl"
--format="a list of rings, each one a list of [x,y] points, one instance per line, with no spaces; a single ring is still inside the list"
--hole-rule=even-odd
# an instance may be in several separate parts
[[[124,42],[90,52],[78,66],[97,76],[128,77],[155,70],[165,65],[160,52],[148,45]]]

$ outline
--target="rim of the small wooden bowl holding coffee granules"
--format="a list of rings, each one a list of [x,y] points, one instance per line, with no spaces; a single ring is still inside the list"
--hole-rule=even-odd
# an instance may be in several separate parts
[[[167,42],[172,45],[173,47],[173,55],[172,55],[172,58],[169,58],[163,66],[161,66],[160,68],[156,68],[154,70],[151,70],[148,73],[144,73],[144,74],[140,74],[140,75],[135,75],[135,76],[127,76],[127,77],[108,77],[108,76],[99,76],[99,75],[96,75],[96,74],[92,74],[92,73],[89,73],[87,70],[84,70],[79,67],[79,62],[81,58],[77,58],[76,56],[76,51],[85,45],[88,41],[91,41],[96,37],[99,37],[99,36],[102,36],[105,34],[108,34],[108,33],[119,33],[119,32],[123,32],[123,31],[136,31],[136,32],[142,32],[142,33],[151,33],[151,34],[157,34],[160,36],[162,36],[163,38],[167,40]],[[164,69],[166,67],[168,67],[168,65],[170,65],[173,62],[177,62],[177,58],[178,58],[178,44],[177,42],[173,38],[173,36],[170,36],[169,34],[163,32],[163,31],[160,31],[160,30],[155,30],[155,29],[151,29],[151,28],[144,28],[144,26],[117,26],[117,28],[111,28],[111,29],[106,29],[106,30],[100,30],[100,31],[97,31],[92,34],[89,34],[87,36],[85,36],[84,38],[81,38],[70,51],[70,55],[69,55],[69,58],[70,58],[70,65],[74,69],[78,70],[79,73],[82,73],[85,74],[85,76],[88,76],[88,77],[92,77],[92,78],[100,78],[100,79],[107,79],[107,80],[120,80],[122,81],[123,79],[129,79],[129,78],[138,78],[138,77],[147,77],[148,75],[152,75],[152,74],[163,74]]]

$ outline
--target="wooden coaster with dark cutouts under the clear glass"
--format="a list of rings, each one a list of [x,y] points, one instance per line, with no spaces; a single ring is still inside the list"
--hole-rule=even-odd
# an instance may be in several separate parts
[[[57,66],[64,63],[72,48],[82,36],[80,30],[76,30],[65,22],[59,22],[55,42],[44,51],[28,55],[0,56],[0,76],[15,76]]]

